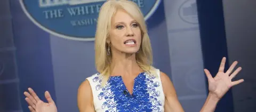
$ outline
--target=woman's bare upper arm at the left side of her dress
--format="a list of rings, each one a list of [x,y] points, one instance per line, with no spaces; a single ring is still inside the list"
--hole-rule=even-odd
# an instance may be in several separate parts
[[[89,81],[84,81],[78,88],[77,105],[80,112],[95,111],[92,89]]]

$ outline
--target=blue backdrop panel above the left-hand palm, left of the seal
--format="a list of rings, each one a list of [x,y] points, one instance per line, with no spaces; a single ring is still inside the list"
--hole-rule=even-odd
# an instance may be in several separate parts
[[[44,101],[44,92],[48,90],[55,100],[49,34],[39,29],[27,18],[19,1],[10,1],[10,5],[13,38],[15,47],[17,47],[21,105],[24,111],[28,111],[23,95],[28,87],[32,87],[38,93],[39,98]]]

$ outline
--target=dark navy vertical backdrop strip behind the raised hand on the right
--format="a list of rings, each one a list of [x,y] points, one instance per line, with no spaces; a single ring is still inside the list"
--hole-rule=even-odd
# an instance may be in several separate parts
[[[222,1],[197,1],[197,5],[204,67],[215,76],[222,57],[227,58],[225,71],[229,68]],[[234,111],[231,90],[220,100],[216,111]]]

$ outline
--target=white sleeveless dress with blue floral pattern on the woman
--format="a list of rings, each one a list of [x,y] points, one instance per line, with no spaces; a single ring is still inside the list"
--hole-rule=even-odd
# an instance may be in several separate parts
[[[159,69],[156,73],[158,77],[140,73],[134,79],[133,94],[126,89],[121,76],[110,76],[104,87],[99,73],[86,78],[92,88],[95,111],[164,111],[165,97]]]

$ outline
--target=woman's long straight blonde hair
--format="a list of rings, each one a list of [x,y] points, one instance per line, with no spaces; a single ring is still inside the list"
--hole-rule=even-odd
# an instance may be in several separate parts
[[[104,85],[110,76],[111,55],[107,55],[107,38],[111,28],[111,20],[118,9],[123,9],[129,13],[139,24],[141,29],[141,46],[139,52],[135,54],[136,61],[141,69],[146,73],[156,75],[156,69],[152,66],[153,56],[147,26],[137,4],[127,0],[109,0],[100,9],[97,30],[95,34],[95,65],[101,75],[104,75],[102,84]]]

